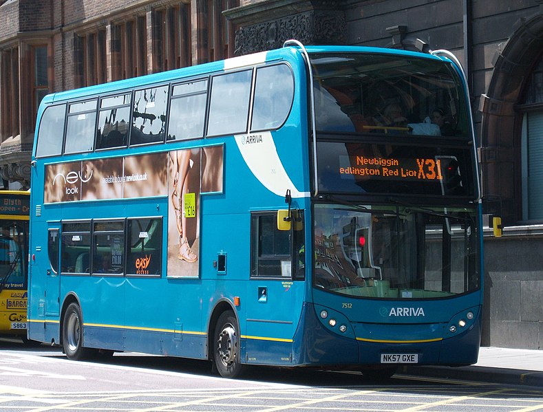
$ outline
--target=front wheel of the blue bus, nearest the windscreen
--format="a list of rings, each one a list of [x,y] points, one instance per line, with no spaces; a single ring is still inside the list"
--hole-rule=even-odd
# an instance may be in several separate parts
[[[213,336],[213,361],[223,378],[237,378],[244,371],[239,363],[239,327],[234,312],[219,316]]]

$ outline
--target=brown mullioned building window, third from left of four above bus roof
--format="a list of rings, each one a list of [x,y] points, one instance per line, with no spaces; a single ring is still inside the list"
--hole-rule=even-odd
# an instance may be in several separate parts
[[[153,72],[191,65],[191,5],[153,12]]]

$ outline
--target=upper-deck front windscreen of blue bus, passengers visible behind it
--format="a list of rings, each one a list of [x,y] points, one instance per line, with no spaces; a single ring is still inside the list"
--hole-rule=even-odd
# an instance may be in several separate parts
[[[318,131],[469,138],[452,65],[413,56],[313,54]]]

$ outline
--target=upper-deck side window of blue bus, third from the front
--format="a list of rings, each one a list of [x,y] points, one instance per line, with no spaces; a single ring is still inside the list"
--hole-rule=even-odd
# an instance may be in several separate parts
[[[173,86],[168,139],[187,140],[204,135],[208,80]]]

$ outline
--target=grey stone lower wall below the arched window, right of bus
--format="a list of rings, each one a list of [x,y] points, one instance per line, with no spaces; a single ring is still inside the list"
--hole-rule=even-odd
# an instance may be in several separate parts
[[[505,232],[485,238],[482,345],[543,349],[543,235]]]

